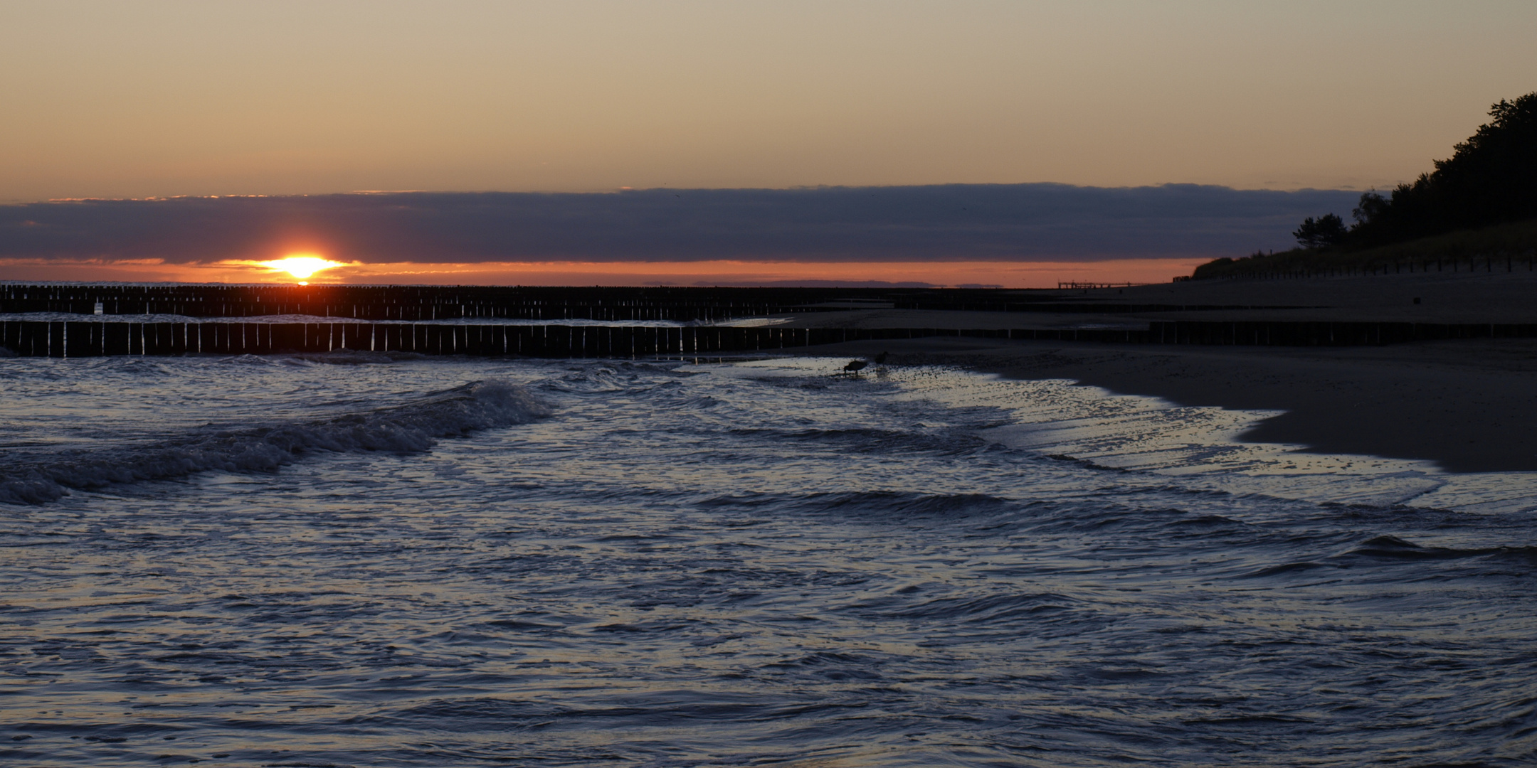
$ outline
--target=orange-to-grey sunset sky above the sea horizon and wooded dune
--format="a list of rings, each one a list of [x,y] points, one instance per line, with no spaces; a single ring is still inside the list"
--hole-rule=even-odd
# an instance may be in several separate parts
[[[1234,200],[1243,190],[1359,194],[1429,170],[1492,101],[1537,89],[1531,29],[1531,2],[8,0],[0,220],[26,220],[15,206],[60,198],[360,190],[607,200],[669,189],[705,200],[702,190],[725,189],[1037,184],[1030,189],[1082,198],[1077,187],[1202,184],[1231,187]],[[1220,249],[1285,246],[1294,223],[1283,218],[1300,198],[1274,200],[1286,203],[1256,212],[1257,233],[1234,229]],[[1333,212],[1348,217],[1348,206]],[[1094,217],[1081,217],[1062,220],[1077,221],[1077,244],[1021,229],[988,253],[958,241],[922,258],[855,249],[839,260],[836,238],[710,258],[644,247],[598,258],[570,243],[473,260],[426,246],[404,261],[326,255],[355,264],[352,280],[460,281],[463,270],[430,276],[432,264],[449,263],[513,281],[532,275],[530,264],[543,264],[541,280],[882,280],[931,261],[930,276],[954,272],[945,263],[996,264],[999,275],[1028,275],[1008,278],[1024,284],[1050,280],[1041,264],[1108,276],[1157,273],[1148,261],[1162,260],[1165,272],[1188,272],[1217,244],[1180,235],[1182,217],[1190,212],[1144,218],[1140,246],[1108,250],[1094,247]],[[785,221],[798,220],[755,226]],[[194,267],[204,278],[227,267],[217,280],[263,275],[218,267],[235,257],[217,249],[146,253],[152,240],[114,230],[111,217],[72,226],[81,227],[75,240],[120,240],[94,253],[26,252],[35,233],[0,229],[0,280],[45,280],[49,264],[72,280],[135,270],[194,280]],[[277,258],[301,244],[274,237],[257,246]],[[384,263],[404,266],[366,267]],[[656,278],[659,264],[673,264],[670,278]]]

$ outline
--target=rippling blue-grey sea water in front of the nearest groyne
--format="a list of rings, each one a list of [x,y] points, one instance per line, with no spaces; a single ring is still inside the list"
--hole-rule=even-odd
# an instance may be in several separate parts
[[[0,359],[14,765],[1532,765],[1537,478],[844,359]]]

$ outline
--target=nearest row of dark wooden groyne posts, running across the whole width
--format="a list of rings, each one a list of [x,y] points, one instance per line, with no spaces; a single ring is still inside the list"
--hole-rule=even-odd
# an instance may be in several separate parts
[[[32,323],[0,321],[0,347],[23,356],[274,355],[410,352],[533,358],[642,358],[928,336],[1122,344],[1371,346],[1449,338],[1534,338],[1537,324],[1151,323],[1116,329],[781,329],[470,326],[407,323]]]

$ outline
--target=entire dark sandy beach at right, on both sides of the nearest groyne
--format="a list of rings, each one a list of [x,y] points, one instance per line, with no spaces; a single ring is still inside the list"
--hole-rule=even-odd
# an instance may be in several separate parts
[[[1147,327],[1150,319],[1531,323],[1537,273],[1193,281],[1059,292],[1096,304],[1243,304],[1202,312],[942,312],[798,315],[808,327]],[[1414,298],[1420,298],[1416,304]],[[1268,309],[1299,306],[1308,309]],[[1537,339],[1383,347],[1091,344],[928,338],[816,347],[896,364],[950,364],[1022,379],[1065,378],[1183,406],[1283,410],[1243,435],[1330,453],[1431,459],[1451,472],[1537,470]]]

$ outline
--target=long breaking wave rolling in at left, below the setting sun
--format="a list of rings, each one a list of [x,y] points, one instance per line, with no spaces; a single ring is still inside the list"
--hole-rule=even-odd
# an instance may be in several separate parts
[[[12,462],[0,470],[0,502],[43,504],[65,496],[68,488],[181,478],[207,470],[274,472],[318,452],[415,453],[430,449],[438,438],[527,424],[549,415],[544,402],[516,384],[473,381],[366,413]]]

